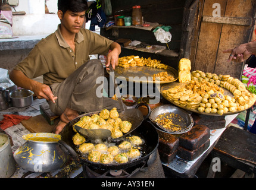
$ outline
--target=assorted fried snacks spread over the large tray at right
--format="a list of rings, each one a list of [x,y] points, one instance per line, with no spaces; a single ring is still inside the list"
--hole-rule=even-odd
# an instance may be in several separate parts
[[[163,94],[178,105],[219,115],[248,109],[256,101],[256,95],[246,90],[241,81],[230,75],[217,75],[196,70],[191,72],[191,79],[185,87],[176,86],[163,91]],[[224,90],[221,87],[229,90],[233,97],[224,96]]]

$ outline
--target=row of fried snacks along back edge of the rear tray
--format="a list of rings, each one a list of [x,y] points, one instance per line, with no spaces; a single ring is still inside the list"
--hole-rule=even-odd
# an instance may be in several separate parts
[[[160,68],[160,69],[167,69],[167,65],[161,64],[161,61],[158,61],[157,59],[151,59],[149,58],[143,58],[130,55],[130,56],[123,56],[118,59],[118,66],[121,66],[123,68],[128,68],[131,66],[151,66],[154,68]]]

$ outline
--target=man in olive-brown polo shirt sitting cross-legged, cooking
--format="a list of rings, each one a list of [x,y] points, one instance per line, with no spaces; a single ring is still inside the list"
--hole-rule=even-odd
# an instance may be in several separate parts
[[[58,29],[40,40],[10,73],[10,79],[18,87],[32,90],[38,99],[46,99],[52,112],[60,115],[60,122],[53,131],[56,134],[62,131],[68,119],[79,116],[79,112],[118,107],[115,100],[97,97],[96,78],[104,75],[104,68],[101,61],[90,60],[89,55],[108,53],[106,66],[111,64],[115,68],[121,47],[82,29],[87,8],[86,0],[58,0]],[[40,75],[43,75],[43,83],[33,80]]]

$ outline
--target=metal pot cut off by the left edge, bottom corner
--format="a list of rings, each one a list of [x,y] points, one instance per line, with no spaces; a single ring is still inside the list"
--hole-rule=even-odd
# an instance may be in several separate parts
[[[10,178],[15,172],[16,163],[8,135],[0,133],[0,178]]]

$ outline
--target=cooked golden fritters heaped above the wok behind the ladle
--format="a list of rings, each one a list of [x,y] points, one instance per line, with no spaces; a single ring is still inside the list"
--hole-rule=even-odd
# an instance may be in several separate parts
[[[132,124],[129,121],[121,121],[117,108],[114,107],[110,111],[107,109],[101,110],[92,116],[83,116],[75,124],[85,129],[109,129],[112,138],[123,136],[123,133],[129,132]],[[74,129],[74,128],[73,128]],[[76,129],[74,129],[75,132]]]

